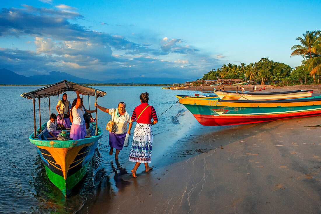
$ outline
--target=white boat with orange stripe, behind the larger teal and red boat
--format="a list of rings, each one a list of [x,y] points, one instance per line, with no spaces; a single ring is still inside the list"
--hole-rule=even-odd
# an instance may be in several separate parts
[[[220,99],[227,100],[277,100],[277,99],[297,99],[311,97],[313,90],[296,90],[270,93],[241,93],[232,91],[214,91]]]

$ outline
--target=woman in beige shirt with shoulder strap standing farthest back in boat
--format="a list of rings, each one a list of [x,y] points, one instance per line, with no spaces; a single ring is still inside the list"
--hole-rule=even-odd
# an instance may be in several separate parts
[[[67,94],[62,95],[62,99],[59,100],[56,110],[58,112],[57,124],[62,124],[66,128],[70,128],[70,102],[67,100]]]

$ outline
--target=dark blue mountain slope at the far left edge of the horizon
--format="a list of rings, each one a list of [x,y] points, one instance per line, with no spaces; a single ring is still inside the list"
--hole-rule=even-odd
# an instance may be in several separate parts
[[[29,77],[14,73],[13,71],[7,69],[0,69],[0,84],[20,84],[28,85],[30,84]]]

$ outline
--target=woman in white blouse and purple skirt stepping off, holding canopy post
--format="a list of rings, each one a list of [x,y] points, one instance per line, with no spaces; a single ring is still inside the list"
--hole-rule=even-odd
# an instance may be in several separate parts
[[[117,125],[116,132],[109,132],[109,155],[113,154],[113,149],[115,148],[115,159],[118,160],[118,154],[120,150],[123,149],[126,134],[130,135],[130,130],[132,129],[133,123],[130,119],[130,115],[126,111],[126,103],[118,103],[118,108],[104,108],[95,103],[95,106],[101,111],[106,112],[111,115],[111,120]],[[127,124],[129,124],[129,129],[127,131]]]

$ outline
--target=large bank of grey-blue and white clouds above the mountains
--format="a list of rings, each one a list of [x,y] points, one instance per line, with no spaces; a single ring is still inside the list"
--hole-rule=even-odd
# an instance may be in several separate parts
[[[139,36],[136,40],[142,42],[136,43],[123,35],[89,30],[75,24],[83,16],[70,11],[76,8],[68,5],[58,5],[58,9],[22,6],[0,11],[0,39],[27,37],[35,49],[22,51],[0,45],[0,68],[26,73],[60,70],[76,76],[91,73],[91,79],[99,76],[103,80],[119,78],[120,71],[127,77],[202,76],[218,63],[218,59],[196,54],[199,50],[182,39],[154,37],[146,41]]]

